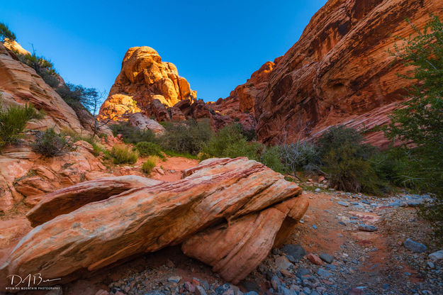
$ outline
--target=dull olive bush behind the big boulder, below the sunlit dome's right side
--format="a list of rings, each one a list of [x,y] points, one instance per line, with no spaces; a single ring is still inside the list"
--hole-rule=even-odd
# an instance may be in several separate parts
[[[213,136],[208,120],[194,119],[180,123],[165,122],[166,133],[159,138],[159,145],[164,150],[197,155],[203,145]]]

